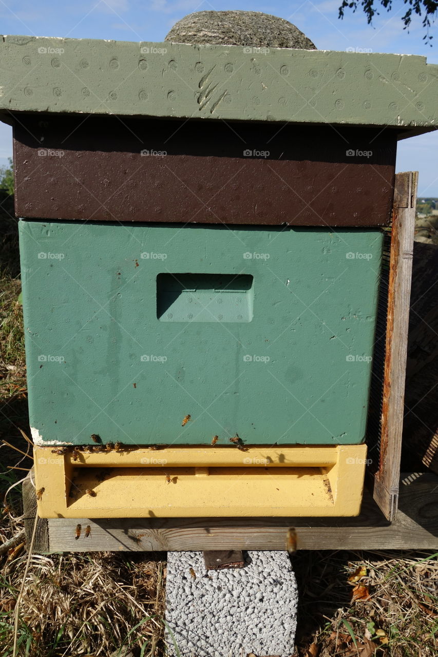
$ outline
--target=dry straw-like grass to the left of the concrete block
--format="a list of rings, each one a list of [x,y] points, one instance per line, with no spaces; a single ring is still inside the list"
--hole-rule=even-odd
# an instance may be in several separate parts
[[[12,609],[25,559],[1,581],[4,655],[12,650]],[[33,555],[20,604],[19,654],[106,657],[119,648],[160,654],[163,580],[159,555]]]

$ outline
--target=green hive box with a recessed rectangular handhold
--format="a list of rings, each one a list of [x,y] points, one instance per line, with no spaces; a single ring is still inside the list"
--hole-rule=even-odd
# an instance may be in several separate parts
[[[362,442],[381,244],[376,229],[20,221],[34,439]]]

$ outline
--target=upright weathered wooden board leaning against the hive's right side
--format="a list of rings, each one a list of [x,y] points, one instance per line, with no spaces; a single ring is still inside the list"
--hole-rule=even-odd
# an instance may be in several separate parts
[[[395,177],[381,442],[374,475],[374,499],[388,520],[395,518],[399,495],[417,183],[415,171]]]

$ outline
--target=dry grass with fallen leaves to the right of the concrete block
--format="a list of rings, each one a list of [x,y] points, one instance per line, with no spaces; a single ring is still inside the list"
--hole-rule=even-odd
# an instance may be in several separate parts
[[[351,602],[348,579],[360,566],[370,600]],[[299,657],[438,654],[437,553],[303,552],[295,573]]]

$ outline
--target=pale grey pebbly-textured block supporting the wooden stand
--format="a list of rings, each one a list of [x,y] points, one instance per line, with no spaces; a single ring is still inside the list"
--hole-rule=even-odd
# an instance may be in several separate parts
[[[202,552],[168,553],[166,623],[182,656],[293,653],[298,595],[287,553],[251,551],[247,562],[207,571]]]

